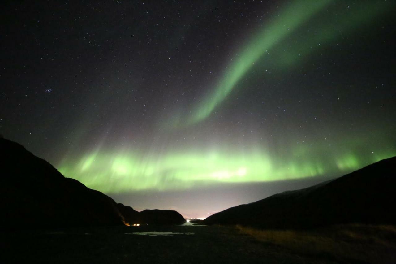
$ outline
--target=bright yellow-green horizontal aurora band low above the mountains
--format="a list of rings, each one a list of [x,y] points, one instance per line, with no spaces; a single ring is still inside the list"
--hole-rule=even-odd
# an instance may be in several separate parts
[[[241,151],[172,151],[149,153],[123,149],[99,149],[80,160],[67,160],[58,166],[70,178],[106,193],[156,189],[183,190],[190,187],[222,183],[272,182],[314,176],[341,176],[365,165],[396,155],[394,144],[371,147],[369,154],[356,151],[331,151],[335,157],[328,161],[320,153],[329,154],[325,144],[316,149],[300,146],[288,155],[271,157],[262,149]],[[366,146],[367,147],[367,146]],[[365,148],[366,148],[365,147]],[[350,146],[347,149],[353,149]],[[281,155],[282,156],[282,155]]]

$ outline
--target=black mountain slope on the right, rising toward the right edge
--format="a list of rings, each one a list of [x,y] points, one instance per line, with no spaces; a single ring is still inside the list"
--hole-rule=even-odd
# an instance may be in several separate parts
[[[396,224],[396,157],[306,189],[213,214],[204,224],[312,228],[332,224]]]

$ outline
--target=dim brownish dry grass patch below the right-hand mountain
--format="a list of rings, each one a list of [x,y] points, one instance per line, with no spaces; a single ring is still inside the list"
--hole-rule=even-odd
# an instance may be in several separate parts
[[[331,256],[341,261],[396,263],[396,227],[350,224],[310,231],[257,230],[237,226],[241,233],[300,254]]]

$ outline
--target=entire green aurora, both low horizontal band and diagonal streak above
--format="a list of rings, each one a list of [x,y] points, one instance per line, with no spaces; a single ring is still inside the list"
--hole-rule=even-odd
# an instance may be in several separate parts
[[[169,129],[164,133],[194,128],[200,125],[198,123],[209,119],[216,107],[253,67],[255,70],[265,69],[267,59],[281,69],[292,70],[293,65],[303,57],[318,52],[326,43],[336,40],[343,33],[355,31],[360,25],[366,25],[370,19],[386,11],[385,4],[366,2],[356,8],[352,15],[341,13],[335,19],[328,14],[324,15],[332,3],[330,0],[299,0],[285,6],[279,15],[263,25],[263,30],[233,57],[211,94],[202,99],[193,111],[183,109],[187,113],[185,115],[173,113],[172,118],[166,122]],[[318,15],[322,15],[321,19],[325,22],[323,30],[315,38],[307,40],[308,33],[298,36],[293,34]],[[337,27],[333,26],[334,23]],[[289,50],[280,51],[276,46],[281,42],[293,42],[294,45]],[[160,127],[164,128],[163,125]],[[320,128],[317,132],[325,134]],[[208,142],[187,146],[166,140],[157,143],[158,145],[153,143],[148,149],[126,146],[128,144],[119,148],[101,145],[82,156],[70,153],[57,168],[63,175],[105,193],[184,190],[214,184],[334,177],[395,156],[394,136],[389,136],[392,134],[386,132],[381,135],[381,132],[384,131],[343,133],[331,140],[324,140],[323,137],[299,145],[291,143],[297,141],[294,138],[284,139],[272,146],[257,143],[259,139],[252,138],[249,140],[251,145],[247,144],[244,149],[235,145],[235,138],[234,142],[221,139],[211,147],[205,147]]]

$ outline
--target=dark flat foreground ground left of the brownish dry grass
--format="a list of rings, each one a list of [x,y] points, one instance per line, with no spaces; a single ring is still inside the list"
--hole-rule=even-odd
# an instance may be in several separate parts
[[[181,234],[133,234],[151,231]],[[3,232],[2,241],[1,263],[366,263],[296,252],[219,226],[13,231]]]

